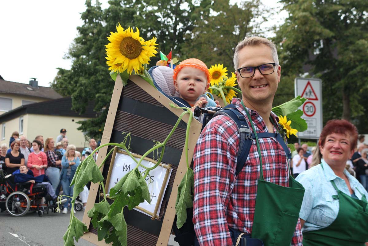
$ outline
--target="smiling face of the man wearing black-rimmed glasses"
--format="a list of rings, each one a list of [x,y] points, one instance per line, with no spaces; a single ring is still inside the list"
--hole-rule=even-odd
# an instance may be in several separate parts
[[[239,51],[239,67],[255,67],[267,63],[274,63],[271,49],[264,45],[245,46]],[[244,103],[250,105],[259,103],[272,103],[277,86],[280,82],[281,67],[275,66],[273,73],[262,75],[258,69],[254,76],[243,78],[239,72],[236,72],[240,89],[243,93]]]

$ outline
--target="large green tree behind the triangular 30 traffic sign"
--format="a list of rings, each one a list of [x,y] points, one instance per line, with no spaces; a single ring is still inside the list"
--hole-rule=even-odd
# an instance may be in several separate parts
[[[324,122],[367,114],[362,102],[368,88],[368,2],[281,2],[289,12],[275,37],[283,75],[291,80],[309,67],[308,76],[322,79]]]

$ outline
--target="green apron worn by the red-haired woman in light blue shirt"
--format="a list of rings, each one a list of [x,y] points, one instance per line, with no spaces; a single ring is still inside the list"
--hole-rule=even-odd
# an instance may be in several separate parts
[[[323,169],[323,164],[320,165]],[[303,233],[303,245],[364,246],[368,242],[367,198],[365,195],[362,195],[362,200],[352,198],[340,191],[333,180],[330,182],[337,191],[332,198],[339,200],[339,213],[326,228]]]

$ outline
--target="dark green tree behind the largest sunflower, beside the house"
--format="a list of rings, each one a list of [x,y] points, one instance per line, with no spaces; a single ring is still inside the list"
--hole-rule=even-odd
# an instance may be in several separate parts
[[[156,36],[160,49],[168,53],[170,48],[180,51],[185,38],[198,19],[209,13],[211,1],[198,3],[185,0],[110,0],[103,10],[99,1],[92,5],[87,0],[81,14],[83,25],[78,27],[67,59],[71,69],[59,68],[52,88],[62,96],[71,96],[72,109],[84,112],[88,103],[94,103],[96,118],[78,122],[78,128],[89,137],[101,138],[110,105],[114,82],[109,76],[105,59],[106,37],[116,30],[118,22],[124,27],[138,27],[145,39]],[[151,64],[155,64],[153,58]]]

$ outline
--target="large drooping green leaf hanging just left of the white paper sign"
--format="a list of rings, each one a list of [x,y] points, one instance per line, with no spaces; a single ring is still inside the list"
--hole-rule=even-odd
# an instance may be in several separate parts
[[[103,180],[103,176],[98,169],[95,160],[93,160],[92,155],[88,156],[81,164],[79,164],[71,181],[70,186],[74,184],[73,199],[71,202],[75,201],[88,182],[92,181],[93,183],[98,183]]]

